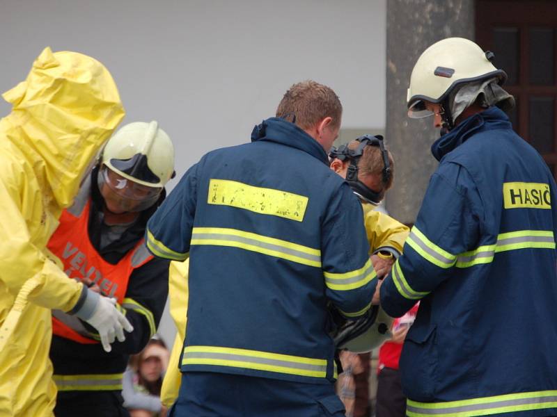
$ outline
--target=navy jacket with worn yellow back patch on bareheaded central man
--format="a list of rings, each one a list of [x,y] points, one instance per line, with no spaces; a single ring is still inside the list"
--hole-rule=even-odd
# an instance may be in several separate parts
[[[252,140],[203,156],[148,223],[155,256],[189,253],[182,371],[329,384],[327,300],[361,316],[377,282],[361,204],[295,124]]]

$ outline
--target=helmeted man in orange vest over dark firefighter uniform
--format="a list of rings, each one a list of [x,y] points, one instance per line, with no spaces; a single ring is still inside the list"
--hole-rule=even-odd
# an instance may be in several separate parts
[[[128,415],[122,374],[155,334],[168,294],[168,261],[148,253],[143,234],[173,172],[173,145],[157,122],[123,126],[49,241],[66,274],[116,299],[134,327],[105,352],[92,327],[53,311],[56,416]]]

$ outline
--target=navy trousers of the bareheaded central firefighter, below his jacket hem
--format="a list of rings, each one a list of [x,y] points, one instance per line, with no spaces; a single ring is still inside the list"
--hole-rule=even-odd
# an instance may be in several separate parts
[[[344,417],[333,384],[187,372],[168,417]]]

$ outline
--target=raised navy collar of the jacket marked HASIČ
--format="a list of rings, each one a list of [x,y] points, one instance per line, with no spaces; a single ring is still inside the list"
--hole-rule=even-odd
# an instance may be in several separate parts
[[[431,152],[437,161],[441,161],[446,154],[462,145],[473,133],[491,129],[510,129],[509,118],[500,108],[492,106],[481,113],[476,113],[464,119],[452,131],[433,142]]]

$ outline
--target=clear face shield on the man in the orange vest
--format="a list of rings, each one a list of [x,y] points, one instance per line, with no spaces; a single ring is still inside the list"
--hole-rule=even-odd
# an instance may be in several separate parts
[[[97,183],[107,208],[117,214],[146,210],[157,202],[162,193],[162,187],[136,183],[106,165],[100,167]]]

